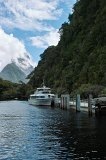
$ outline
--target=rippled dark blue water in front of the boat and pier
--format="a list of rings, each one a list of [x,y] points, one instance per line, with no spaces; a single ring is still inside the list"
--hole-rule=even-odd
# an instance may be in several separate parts
[[[106,117],[0,102],[0,160],[106,159]]]

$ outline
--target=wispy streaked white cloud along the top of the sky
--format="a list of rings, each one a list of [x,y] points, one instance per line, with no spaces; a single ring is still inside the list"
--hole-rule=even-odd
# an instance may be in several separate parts
[[[61,0],[0,0],[0,25],[21,30],[50,31],[46,21],[62,14]],[[45,21],[45,23],[44,23]]]

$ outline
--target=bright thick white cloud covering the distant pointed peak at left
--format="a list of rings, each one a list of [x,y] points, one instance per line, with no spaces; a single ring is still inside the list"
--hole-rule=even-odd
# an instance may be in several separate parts
[[[7,34],[0,28],[0,71],[14,59],[16,63],[17,58],[25,60],[26,67],[28,65],[35,65],[30,54],[26,51],[24,43],[15,38],[13,34]]]

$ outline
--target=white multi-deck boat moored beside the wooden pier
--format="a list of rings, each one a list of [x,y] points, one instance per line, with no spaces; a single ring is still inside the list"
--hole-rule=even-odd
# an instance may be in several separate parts
[[[29,104],[35,106],[53,106],[55,103],[55,94],[51,93],[51,89],[43,85],[37,88],[34,94],[28,99]]]

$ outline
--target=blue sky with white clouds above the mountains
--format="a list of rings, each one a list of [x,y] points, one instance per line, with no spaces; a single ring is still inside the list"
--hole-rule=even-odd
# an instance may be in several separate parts
[[[39,55],[59,41],[58,30],[68,21],[76,0],[0,0],[0,68],[27,53]]]

